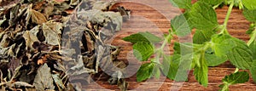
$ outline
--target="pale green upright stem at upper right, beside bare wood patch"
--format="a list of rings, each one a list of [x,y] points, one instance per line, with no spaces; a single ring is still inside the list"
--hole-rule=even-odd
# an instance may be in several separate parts
[[[232,1],[231,4],[230,4],[230,7],[228,9],[228,13],[227,13],[226,18],[224,20],[224,28],[220,31],[220,34],[223,34],[223,33],[224,34],[229,34],[229,31],[227,31],[227,26],[228,26],[228,22],[230,20],[230,14],[231,14],[231,11],[232,11],[233,7],[234,7],[234,1]]]

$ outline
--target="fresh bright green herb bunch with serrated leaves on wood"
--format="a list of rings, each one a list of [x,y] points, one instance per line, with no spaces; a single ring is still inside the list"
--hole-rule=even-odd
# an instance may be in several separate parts
[[[217,66],[230,61],[236,71],[225,76],[220,90],[229,90],[229,86],[247,82],[249,70],[256,82],[256,2],[253,0],[170,0],[172,5],[185,9],[183,14],[171,20],[172,29],[164,37],[149,32],[139,32],[123,38],[133,43],[133,54],[140,61],[150,62],[141,65],[137,71],[137,81],[150,77],[160,78],[161,72],[175,81],[186,81],[188,71],[194,69],[195,79],[204,87],[208,84],[208,66]],[[214,9],[229,6],[224,24],[219,24]],[[242,9],[242,14],[252,24],[247,31],[250,40],[244,41],[232,37],[227,29],[228,20],[234,7]],[[165,54],[164,48],[173,37],[185,37],[195,29],[193,43],[175,43],[174,53]],[[155,43],[162,43],[160,48]],[[153,56],[154,57],[151,57]],[[160,61],[162,59],[162,61]]]

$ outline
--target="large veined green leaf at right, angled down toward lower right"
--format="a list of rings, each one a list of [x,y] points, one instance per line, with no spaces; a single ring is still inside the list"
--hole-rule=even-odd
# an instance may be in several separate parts
[[[232,65],[239,69],[249,69],[253,61],[253,53],[247,44],[230,35],[212,37],[213,50],[218,57],[227,56]]]

